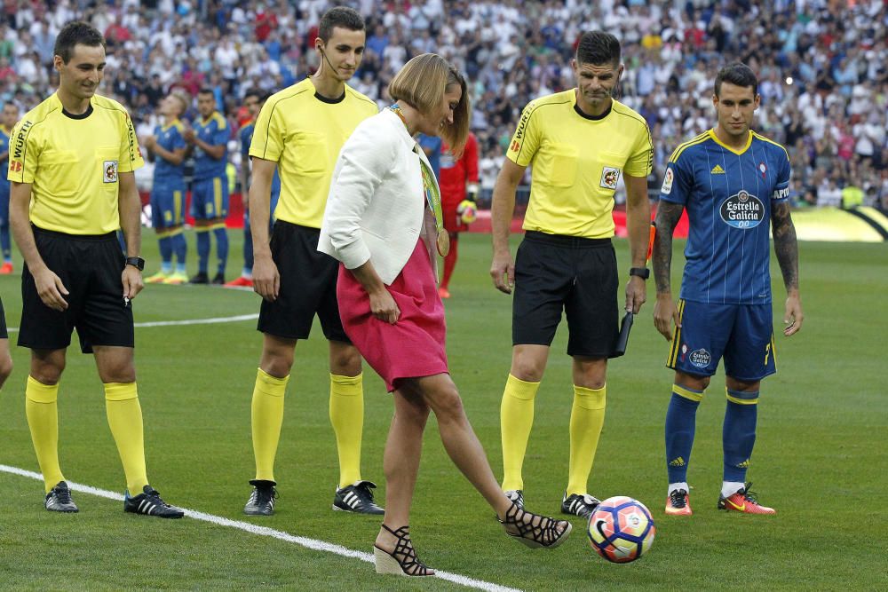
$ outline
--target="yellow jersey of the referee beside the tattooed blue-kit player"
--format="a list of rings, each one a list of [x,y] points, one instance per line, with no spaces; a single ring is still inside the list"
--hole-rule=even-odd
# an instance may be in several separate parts
[[[644,117],[616,100],[583,114],[571,89],[527,104],[506,157],[531,165],[525,230],[603,239],[614,236],[617,181],[649,175],[654,145]]]

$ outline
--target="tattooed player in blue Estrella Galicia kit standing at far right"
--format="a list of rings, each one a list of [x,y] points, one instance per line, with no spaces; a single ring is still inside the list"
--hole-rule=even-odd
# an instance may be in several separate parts
[[[775,513],[744,483],[756,441],[759,385],[776,372],[769,225],[787,291],[783,335],[795,335],[804,315],[789,216],[789,157],[783,146],[749,129],[760,102],[757,89],[749,67],[723,67],[712,97],[718,124],[678,146],[663,178],[653,252],[654,325],[671,343],[667,366],[675,370],[666,412],[670,515],[691,514],[687,466],[695,416],[722,358],[727,407],[718,508]],[[670,291],[672,233],[685,209],[690,231],[676,303]]]

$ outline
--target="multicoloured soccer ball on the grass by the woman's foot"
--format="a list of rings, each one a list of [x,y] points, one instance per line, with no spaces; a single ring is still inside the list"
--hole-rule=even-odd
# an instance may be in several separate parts
[[[635,561],[654,544],[654,518],[645,504],[625,495],[602,501],[589,517],[592,549],[607,561]]]

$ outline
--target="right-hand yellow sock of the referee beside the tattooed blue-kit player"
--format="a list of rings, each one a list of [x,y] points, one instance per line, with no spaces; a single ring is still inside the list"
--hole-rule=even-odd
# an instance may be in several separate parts
[[[570,410],[570,464],[567,495],[586,493],[592,461],[599,447],[601,426],[605,422],[607,385],[586,389],[574,385],[574,407]]]

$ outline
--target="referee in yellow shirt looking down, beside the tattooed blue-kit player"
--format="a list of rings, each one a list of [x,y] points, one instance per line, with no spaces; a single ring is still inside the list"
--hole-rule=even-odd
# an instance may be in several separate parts
[[[645,303],[650,204],[646,177],[654,149],[639,114],[611,97],[623,66],[620,42],[600,31],[580,37],[571,60],[577,87],[527,104],[494,188],[497,289],[512,300],[511,371],[501,407],[503,491],[524,502],[521,474],[534,422],[534,399],[562,311],[573,357],[574,404],[570,461],[561,511],[588,517],[599,501],[587,481],[605,414],[607,359],[618,331],[618,275],[614,248],[614,190],[627,193],[632,267],[625,309]],[[526,231],[518,254],[509,252],[515,190],[532,166]]]

